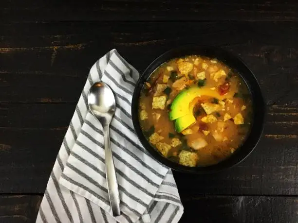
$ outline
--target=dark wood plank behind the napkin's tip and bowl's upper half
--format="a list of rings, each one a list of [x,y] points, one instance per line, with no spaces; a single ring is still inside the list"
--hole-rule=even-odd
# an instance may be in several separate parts
[[[297,106],[298,42],[291,38],[298,36],[296,27],[296,22],[2,24],[0,102],[75,103],[93,63],[112,48],[142,72],[164,51],[203,44],[239,55],[256,74],[267,104]]]

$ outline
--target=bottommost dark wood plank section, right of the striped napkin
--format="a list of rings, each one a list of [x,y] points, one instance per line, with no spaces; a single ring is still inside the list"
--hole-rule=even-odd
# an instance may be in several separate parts
[[[297,223],[297,197],[206,196],[185,201],[181,223]]]

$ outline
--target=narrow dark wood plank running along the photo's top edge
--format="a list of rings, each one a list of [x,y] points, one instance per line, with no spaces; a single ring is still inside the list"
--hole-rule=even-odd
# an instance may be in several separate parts
[[[295,0],[2,0],[10,21],[296,20]]]

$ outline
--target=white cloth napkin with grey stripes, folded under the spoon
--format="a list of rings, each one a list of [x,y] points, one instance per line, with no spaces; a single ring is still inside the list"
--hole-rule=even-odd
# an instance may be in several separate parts
[[[139,73],[116,50],[91,68],[75,114],[56,158],[37,223],[176,223],[183,214],[173,174],[140,144],[131,121],[131,99]],[[88,110],[87,95],[97,81],[116,98],[110,126],[121,215],[112,216],[101,124]]]

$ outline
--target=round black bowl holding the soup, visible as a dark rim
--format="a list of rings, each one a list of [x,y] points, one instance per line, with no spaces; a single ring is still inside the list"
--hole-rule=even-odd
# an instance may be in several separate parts
[[[231,156],[219,162],[218,164],[207,166],[207,167],[186,167],[178,163],[174,163],[167,158],[163,157],[159,152],[157,152],[148,142],[146,137],[143,135],[141,126],[139,123],[138,117],[138,104],[139,97],[142,90],[142,87],[151,73],[157,69],[163,63],[177,57],[183,57],[186,55],[202,55],[210,58],[217,58],[219,61],[222,61],[224,64],[229,66],[231,69],[236,70],[248,86],[252,101],[253,101],[253,123],[251,125],[250,134],[242,144]],[[261,88],[255,77],[255,75],[247,68],[243,61],[233,55],[232,53],[225,51],[221,48],[216,47],[205,47],[205,46],[185,46],[177,49],[168,51],[158,58],[156,58],[148,68],[140,76],[135,90],[133,92],[132,104],[131,104],[131,116],[132,122],[135,129],[135,132],[145,147],[145,149],[151,154],[156,160],[160,163],[168,166],[169,168],[181,171],[181,172],[192,172],[192,173],[210,173],[218,172],[223,169],[238,164],[243,159],[245,159],[256,147],[263,130],[264,123],[264,114],[265,114],[265,104],[261,93]]]

